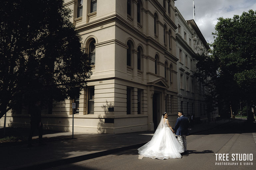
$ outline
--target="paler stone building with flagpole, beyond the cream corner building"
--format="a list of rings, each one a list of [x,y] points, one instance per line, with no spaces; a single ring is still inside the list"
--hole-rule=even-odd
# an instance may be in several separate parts
[[[207,114],[204,95],[208,93],[208,89],[202,83],[197,82],[194,77],[196,71],[195,55],[204,53],[208,56],[210,47],[195,21],[185,21],[177,7],[175,7],[175,17],[177,26],[176,56],[179,58],[177,62],[178,108],[184,112],[185,116],[189,117],[193,114],[195,118],[201,121],[213,120],[218,116],[217,109],[213,113]]]

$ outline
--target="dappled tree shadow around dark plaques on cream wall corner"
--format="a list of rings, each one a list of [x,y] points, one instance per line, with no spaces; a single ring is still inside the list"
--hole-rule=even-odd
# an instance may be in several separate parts
[[[114,112],[109,112],[108,108],[114,107],[113,102],[108,102],[106,100],[106,105],[102,105],[101,108],[104,110],[104,115],[98,115],[98,125],[97,125],[97,132],[98,133],[113,133],[114,130]],[[105,115],[113,115],[113,118],[106,118]],[[110,130],[107,130],[110,129]]]

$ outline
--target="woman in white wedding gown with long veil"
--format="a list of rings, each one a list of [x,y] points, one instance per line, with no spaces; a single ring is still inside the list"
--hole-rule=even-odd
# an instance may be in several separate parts
[[[143,157],[152,159],[181,158],[180,153],[184,150],[174,136],[174,130],[170,126],[167,117],[168,114],[164,112],[152,139],[138,149],[139,159]]]

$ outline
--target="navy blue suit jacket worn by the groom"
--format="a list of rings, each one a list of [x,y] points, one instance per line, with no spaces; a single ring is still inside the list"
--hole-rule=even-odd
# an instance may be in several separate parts
[[[188,135],[188,125],[188,118],[181,116],[177,119],[173,130],[175,131],[176,135]]]

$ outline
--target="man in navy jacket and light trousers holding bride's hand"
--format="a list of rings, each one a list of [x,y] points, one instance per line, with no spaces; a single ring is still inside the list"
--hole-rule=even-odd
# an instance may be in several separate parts
[[[179,111],[178,112],[178,119],[176,121],[175,127],[174,127],[174,131],[175,134],[178,136],[178,141],[180,142],[180,144],[182,145],[182,148],[184,150],[184,153],[187,153],[187,139],[186,139],[186,135],[188,135],[188,118],[186,118],[185,116],[183,116],[183,112]]]

